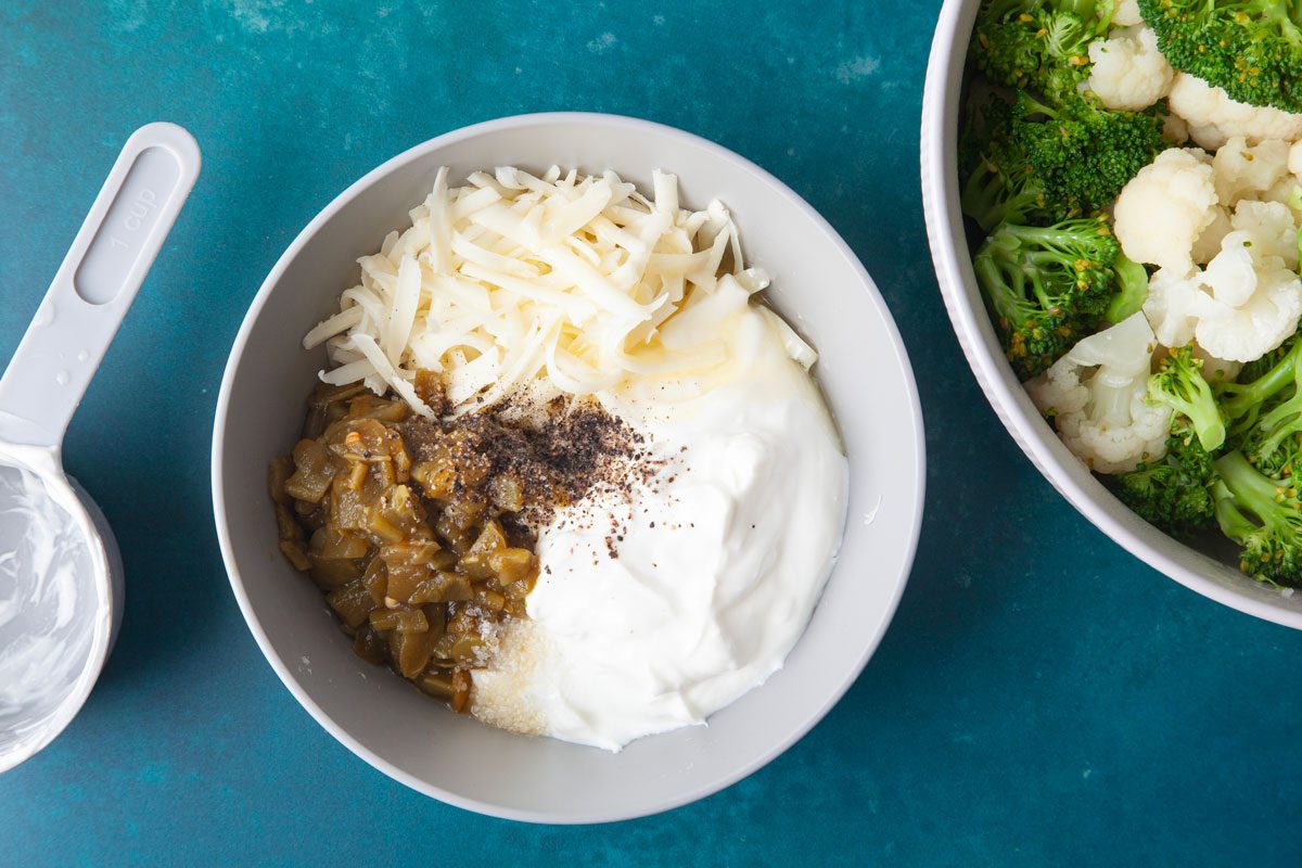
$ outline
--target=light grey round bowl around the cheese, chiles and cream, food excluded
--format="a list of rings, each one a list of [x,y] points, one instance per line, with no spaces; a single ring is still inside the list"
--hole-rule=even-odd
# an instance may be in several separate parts
[[[618,755],[521,738],[452,714],[358,660],[320,592],[276,550],[268,459],[298,437],[324,364],[299,337],[355,282],[355,259],[408,220],[440,165],[453,178],[496,165],[615,168],[650,189],[681,178],[684,202],[717,195],[772,302],[823,354],[822,385],[852,468],[838,565],[786,668],[707,727],[638,740]],[[389,160],[326,207],[254,299],[217,401],[212,493],[221,552],[249,627],[303,708],[385,774],[444,802],[517,820],[594,822],[706,796],[760,768],[832,707],[876,648],[904,590],[923,497],[922,418],[894,324],[859,262],[772,176],[673,129],[600,115],[509,117],[449,133]]]

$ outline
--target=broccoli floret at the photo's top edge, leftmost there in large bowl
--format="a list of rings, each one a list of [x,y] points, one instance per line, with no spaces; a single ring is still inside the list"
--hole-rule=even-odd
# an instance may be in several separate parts
[[[1032,88],[1051,102],[1074,96],[1090,74],[1090,43],[1107,35],[1111,0],[988,0],[971,56],[995,83]]]

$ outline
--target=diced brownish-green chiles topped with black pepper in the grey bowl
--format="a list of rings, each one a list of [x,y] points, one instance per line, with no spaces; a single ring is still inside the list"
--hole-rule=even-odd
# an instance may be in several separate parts
[[[441,407],[432,383],[418,390]],[[305,439],[268,471],[281,552],[326,592],[358,656],[462,711],[467,673],[538,579],[530,526],[624,481],[616,465],[637,436],[565,401],[526,423],[497,411],[440,423],[323,384],[309,407]]]

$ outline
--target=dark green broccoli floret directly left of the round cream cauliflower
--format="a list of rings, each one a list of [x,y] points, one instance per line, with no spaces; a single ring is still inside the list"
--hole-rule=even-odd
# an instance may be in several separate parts
[[[995,96],[963,134],[963,213],[986,232],[1092,215],[1167,147],[1161,124],[1156,109],[1112,112],[1083,96],[1059,107]]]

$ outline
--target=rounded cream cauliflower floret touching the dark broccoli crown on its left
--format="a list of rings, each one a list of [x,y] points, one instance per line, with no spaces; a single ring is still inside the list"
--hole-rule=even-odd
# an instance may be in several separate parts
[[[1163,151],[1121,190],[1117,241],[1135,262],[1186,272],[1199,236],[1216,223],[1216,204],[1207,155],[1197,148]]]

